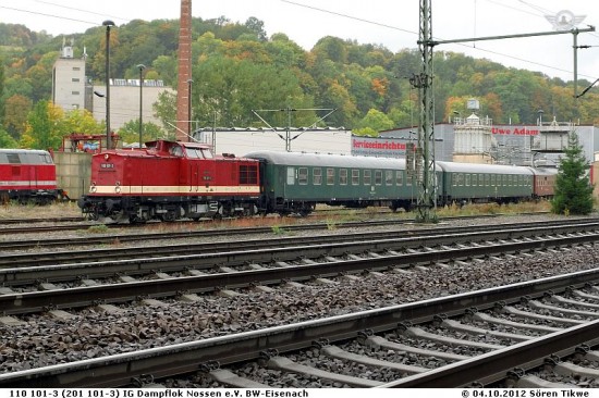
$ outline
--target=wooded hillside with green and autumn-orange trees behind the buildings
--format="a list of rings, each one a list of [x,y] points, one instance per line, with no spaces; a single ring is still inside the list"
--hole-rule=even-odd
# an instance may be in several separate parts
[[[50,99],[52,64],[64,39],[73,40],[75,57],[85,49],[88,76],[103,82],[105,32],[98,26],[64,38],[0,24],[0,145],[2,130],[23,142],[36,104]],[[176,87],[178,37],[176,20],[135,20],[112,29],[112,77],[138,78],[136,65],[145,64],[146,78]],[[408,82],[419,71],[416,42],[414,47],[393,53],[329,36],[306,51],[284,34],[267,34],[257,18],[243,24],[194,18],[192,119],[199,126],[265,126],[252,110],[291,108],[297,110],[291,124],[308,126],[325,113],[307,109],[335,109],[319,125],[362,134],[415,125],[417,91]],[[578,82],[579,90],[588,85]],[[497,124],[536,123],[539,109],[546,119],[597,124],[598,92],[591,89],[576,109],[572,82],[455,52],[435,54],[437,122],[454,111],[466,115],[466,100],[477,98],[480,114]],[[172,99],[163,98],[155,111],[173,120]],[[289,123],[288,112],[262,116],[272,126]]]

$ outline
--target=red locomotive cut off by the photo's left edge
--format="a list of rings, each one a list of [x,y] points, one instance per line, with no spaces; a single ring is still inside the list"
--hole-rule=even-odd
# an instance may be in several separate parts
[[[61,195],[48,151],[0,149],[0,201],[47,204]]]

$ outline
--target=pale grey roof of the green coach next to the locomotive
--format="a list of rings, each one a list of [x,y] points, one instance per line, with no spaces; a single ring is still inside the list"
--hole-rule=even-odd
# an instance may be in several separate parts
[[[332,167],[365,167],[365,169],[398,169],[405,167],[404,159],[356,157],[350,154],[276,152],[258,151],[244,156],[250,159],[264,159],[272,164],[332,166]]]

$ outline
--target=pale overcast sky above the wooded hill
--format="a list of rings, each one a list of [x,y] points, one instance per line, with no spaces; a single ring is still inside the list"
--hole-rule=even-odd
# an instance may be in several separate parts
[[[335,36],[382,45],[393,52],[417,48],[418,0],[195,0],[192,13],[201,18],[225,16],[245,22],[255,16],[270,36],[284,33],[309,50],[318,39]],[[83,33],[112,20],[178,18],[180,0],[1,0],[0,22],[24,24],[53,36]],[[432,35],[438,40],[468,39],[554,30],[547,16],[574,16],[577,27],[599,25],[596,0],[432,0]],[[506,66],[574,78],[572,34],[439,45],[435,51],[456,51]],[[76,45],[76,43],[75,43]],[[578,78],[599,78],[599,33],[580,33]]]

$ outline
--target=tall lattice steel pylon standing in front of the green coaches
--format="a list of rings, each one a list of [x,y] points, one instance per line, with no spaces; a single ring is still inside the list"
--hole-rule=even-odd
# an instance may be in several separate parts
[[[415,169],[418,185],[416,221],[437,221],[437,178],[435,175],[435,101],[432,97],[432,18],[431,0],[420,0],[420,27],[418,49],[423,69],[409,83],[418,89],[419,124],[418,146],[415,153]]]

